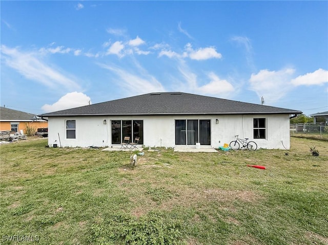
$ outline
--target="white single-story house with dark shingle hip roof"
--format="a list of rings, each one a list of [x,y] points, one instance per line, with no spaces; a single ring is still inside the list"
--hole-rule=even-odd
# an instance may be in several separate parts
[[[249,138],[259,148],[290,147],[290,116],[284,109],[187,93],[150,93],[43,114],[49,145],[115,146],[139,137],[151,147],[222,146]]]

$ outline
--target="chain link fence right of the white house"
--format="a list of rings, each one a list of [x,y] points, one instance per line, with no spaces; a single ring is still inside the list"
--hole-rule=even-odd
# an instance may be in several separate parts
[[[317,138],[328,138],[328,126],[308,123],[290,124],[291,136],[310,135]]]

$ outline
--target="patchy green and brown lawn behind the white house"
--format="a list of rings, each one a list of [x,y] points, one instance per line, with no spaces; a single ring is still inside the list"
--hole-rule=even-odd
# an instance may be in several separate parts
[[[129,152],[46,144],[0,146],[1,244],[328,243],[327,142],[291,138],[289,151],[160,149],[138,156],[136,167]]]

